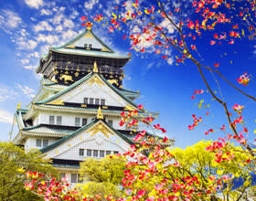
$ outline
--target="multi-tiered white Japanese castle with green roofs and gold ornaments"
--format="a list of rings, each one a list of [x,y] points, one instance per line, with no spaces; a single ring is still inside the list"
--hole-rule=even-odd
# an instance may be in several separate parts
[[[148,115],[133,102],[139,92],[123,89],[123,66],[130,59],[89,29],[50,47],[37,67],[42,74],[37,95],[27,109],[16,110],[18,132],[12,142],[39,149],[70,183],[80,181],[80,163],[86,158],[126,152],[137,132],[120,126],[121,112]]]

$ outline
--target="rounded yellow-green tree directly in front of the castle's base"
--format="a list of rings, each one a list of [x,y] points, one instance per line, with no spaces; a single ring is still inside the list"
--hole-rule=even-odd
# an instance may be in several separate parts
[[[125,161],[116,156],[106,156],[101,160],[90,158],[80,164],[80,175],[88,182],[80,185],[81,193],[88,197],[106,195],[118,198],[122,196],[120,185],[123,179]]]

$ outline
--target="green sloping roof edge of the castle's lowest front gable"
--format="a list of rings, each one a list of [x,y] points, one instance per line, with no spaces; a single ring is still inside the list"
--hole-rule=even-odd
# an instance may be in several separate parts
[[[121,137],[126,143],[130,143],[132,144],[133,142],[126,138],[121,132],[118,132],[117,130],[115,130],[108,122],[105,122],[103,120],[99,120],[99,119],[94,119],[93,121],[91,121],[90,123],[88,123],[87,125],[84,125],[83,127],[81,127],[79,130],[69,134],[66,137],[61,138],[59,141],[52,143],[50,145],[48,145],[47,147],[44,147],[42,149],[40,149],[41,153],[47,153],[50,150],[55,149],[56,147],[58,147],[59,145],[61,145],[62,143],[66,143],[69,141],[69,139],[75,137],[76,135],[78,135],[80,132],[86,131],[87,129],[91,128],[94,124],[96,124],[97,122],[102,122],[104,123],[112,132],[115,132],[119,137]]]

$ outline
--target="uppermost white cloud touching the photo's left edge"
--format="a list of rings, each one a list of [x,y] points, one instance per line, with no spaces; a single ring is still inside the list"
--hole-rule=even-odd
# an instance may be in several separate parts
[[[22,19],[14,11],[1,10],[0,11],[0,27],[6,32],[15,29],[17,26],[22,25]]]

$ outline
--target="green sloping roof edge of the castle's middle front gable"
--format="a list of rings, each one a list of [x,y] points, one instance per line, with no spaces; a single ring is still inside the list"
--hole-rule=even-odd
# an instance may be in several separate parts
[[[95,76],[99,76],[99,78],[106,84],[108,85],[112,90],[114,90],[119,96],[121,96],[124,100],[128,101],[131,105],[133,105],[133,107],[137,107],[137,105],[133,102],[133,100],[131,100],[130,98],[128,98],[127,96],[125,96],[120,90],[116,89],[111,83],[108,82],[107,79],[104,79],[104,77],[99,74],[99,73],[94,73],[91,72],[89,73],[87,76],[83,77],[82,79],[74,82],[73,84],[71,84],[68,88],[66,88],[65,90],[61,90],[59,91],[57,94],[49,97],[48,99],[45,100],[40,100],[37,101],[35,104],[45,104],[48,103],[51,100],[55,100],[57,98],[59,98],[60,96],[64,95],[65,93],[69,92],[70,90],[73,90],[75,88],[77,88],[78,86],[80,86],[81,83],[83,83],[84,81],[91,79],[91,77],[95,75]]]

